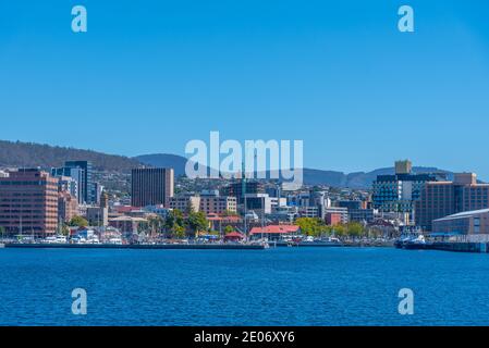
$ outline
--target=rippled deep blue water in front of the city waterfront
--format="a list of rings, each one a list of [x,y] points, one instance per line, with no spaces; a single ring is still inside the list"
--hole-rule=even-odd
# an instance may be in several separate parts
[[[0,249],[0,325],[487,325],[489,254]],[[74,288],[87,315],[71,312]],[[414,315],[398,312],[401,288]]]

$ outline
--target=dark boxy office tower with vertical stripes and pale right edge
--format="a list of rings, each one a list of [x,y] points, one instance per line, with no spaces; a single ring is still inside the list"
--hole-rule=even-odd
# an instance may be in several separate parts
[[[131,204],[169,207],[173,197],[173,169],[135,169],[132,171]]]

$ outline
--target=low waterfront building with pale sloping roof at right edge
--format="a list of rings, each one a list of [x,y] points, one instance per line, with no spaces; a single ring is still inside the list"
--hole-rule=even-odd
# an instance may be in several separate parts
[[[444,234],[489,234],[489,209],[465,211],[432,222],[435,233]]]

